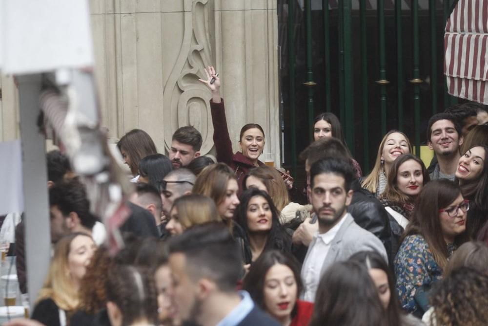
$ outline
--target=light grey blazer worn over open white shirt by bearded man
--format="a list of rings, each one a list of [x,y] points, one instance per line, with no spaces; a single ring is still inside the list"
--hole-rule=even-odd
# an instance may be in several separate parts
[[[339,231],[337,231],[336,236],[330,244],[330,249],[325,256],[324,263],[320,274],[323,275],[325,270],[336,261],[346,261],[357,252],[360,251],[376,251],[385,259],[388,263],[388,257],[386,256],[386,249],[380,239],[376,238],[371,232],[366,231],[362,227],[354,222],[354,218],[347,213],[346,220],[341,225]],[[310,257],[310,251],[315,245],[317,237],[314,237],[310,245],[308,246],[308,251],[305,256],[305,261],[303,266],[306,266],[306,262],[309,259],[314,259]],[[304,275],[304,271],[302,271]]]

